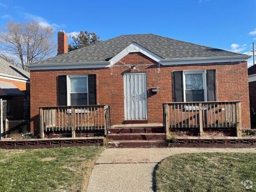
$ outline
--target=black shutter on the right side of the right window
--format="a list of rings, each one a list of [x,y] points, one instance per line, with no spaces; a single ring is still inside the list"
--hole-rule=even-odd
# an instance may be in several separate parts
[[[216,101],[216,70],[206,70],[207,101]]]

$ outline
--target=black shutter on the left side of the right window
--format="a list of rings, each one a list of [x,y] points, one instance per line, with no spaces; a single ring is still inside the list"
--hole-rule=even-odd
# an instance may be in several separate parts
[[[174,71],[175,101],[184,102],[183,71]]]

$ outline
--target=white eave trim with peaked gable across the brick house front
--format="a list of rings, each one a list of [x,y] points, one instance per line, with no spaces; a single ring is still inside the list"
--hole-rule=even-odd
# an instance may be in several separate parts
[[[223,57],[190,57],[190,58],[176,58],[163,59],[154,54],[143,46],[132,42],[129,46],[124,48],[117,55],[112,57],[109,61],[99,62],[84,62],[84,63],[52,63],[52,64],[32,64],[26,65],[30,70],[54,70],[54,69],[78,69],[78,68],[107,68],[113,66],[120,59],[129,53],[141,52],[161,65],[186,65],[186,64],[200,64],[200,63],[221,63],[221,62],[238,62],[247,61],[249,55],[223,56]]]

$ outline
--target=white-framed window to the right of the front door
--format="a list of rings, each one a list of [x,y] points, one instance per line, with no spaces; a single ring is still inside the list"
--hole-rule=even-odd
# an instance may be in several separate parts
[[[206,102],[206,71],[183,71],[184,102]]]

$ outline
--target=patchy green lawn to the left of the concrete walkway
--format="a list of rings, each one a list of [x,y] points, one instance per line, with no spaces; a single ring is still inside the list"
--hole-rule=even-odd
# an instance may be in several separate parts
[[[83,191],[100,146],[0,150],[0,191]]]

